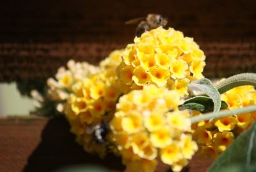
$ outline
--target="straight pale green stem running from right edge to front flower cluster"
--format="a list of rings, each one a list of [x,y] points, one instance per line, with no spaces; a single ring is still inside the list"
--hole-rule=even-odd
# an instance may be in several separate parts
[[[204,115],[199,115],[195,117],[191,117],[191,123],[200,122],[202,120],[211,120],[213,118],[221,118],[221,117],[228,117],[230,115],[237,115],[241,113],[249,113],[256,111],[256,105],[247,106],[245,108],[237,108],[235,110],[225,110],[225,111],[218,111],[214,113],[205,113]]]

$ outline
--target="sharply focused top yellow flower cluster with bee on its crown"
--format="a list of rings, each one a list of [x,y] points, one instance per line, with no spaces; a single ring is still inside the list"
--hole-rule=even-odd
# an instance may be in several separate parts
[[[193,38],[172,28],[144,32],[127,45],[118,66],[120,80],[131,87],[154,83],[188,95],[188,83],[202,78],[205,55]],[[135,87],[136,88],[136,87]]]

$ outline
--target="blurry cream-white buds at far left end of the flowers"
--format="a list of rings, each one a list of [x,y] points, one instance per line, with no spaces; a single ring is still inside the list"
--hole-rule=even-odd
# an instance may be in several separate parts
[[[98,73],[99,70],[99,67],[88,62],[68,61],[67,69],[62,66],[54,78],[47,80],[47,90],[31,91],[31,97],[35,99],[36,113],[43,115],[46,115],[45,113],[53,113],[51,115],[63,113],[65,103],[72,92],[72,86],[83,78]]]

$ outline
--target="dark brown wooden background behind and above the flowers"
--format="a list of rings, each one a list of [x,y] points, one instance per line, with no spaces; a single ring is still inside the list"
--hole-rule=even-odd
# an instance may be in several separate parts
[[[256,1],[3,1],[0,82],[45,80],[70,58],[96,64],[134,38],[124,22],[148,13],[195,38],[207,59],[204,75],[256,72]]]

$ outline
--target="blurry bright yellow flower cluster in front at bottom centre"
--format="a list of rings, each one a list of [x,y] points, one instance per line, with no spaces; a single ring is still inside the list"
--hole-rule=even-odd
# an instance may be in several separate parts
[[[156,85],[145,85],[120,97],[109,138],[128,171],[154,171],[158,155],[173,171],[188,164],[197,145],[189,134],[189,113],[179,111],[180,102],[175,90]]]

